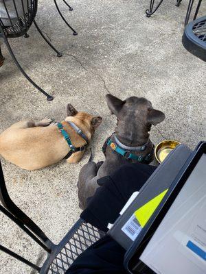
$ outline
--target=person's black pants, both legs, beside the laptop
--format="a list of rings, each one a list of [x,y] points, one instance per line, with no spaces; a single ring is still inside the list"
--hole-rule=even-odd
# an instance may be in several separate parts
[[[81,218],[106,232],[114,223],[133,192],[138,191],[155,171],[155,166],[127,164],[113,175],[98,181],[100,188],[89,200]],[[125,250],[104,236],[73,262],[67,274],[124,274]]]

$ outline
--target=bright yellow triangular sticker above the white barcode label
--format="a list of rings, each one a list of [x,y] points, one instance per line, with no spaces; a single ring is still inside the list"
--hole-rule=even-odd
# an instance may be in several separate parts
[[[150,217],[155,212],[167,192],[168,189],[164,190],[155,198],[148,201],[148,203],[146,203],[144,206],[141,206],[141,208],[135,211],[135,217],[137,218],[137,221],[139,221],[141,227],[144,227],[149,221]]]

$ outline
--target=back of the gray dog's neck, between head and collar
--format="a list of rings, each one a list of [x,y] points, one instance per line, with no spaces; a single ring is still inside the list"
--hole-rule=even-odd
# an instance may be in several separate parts
[[[138,126],[138,127],[126,127],[125,125],[121,125],[121,123],[117,123],[117,127],[115,128],[115,135],[119,142],[128,146],[128,147],[139,147],[148,142],[150,138],[150,126]]]

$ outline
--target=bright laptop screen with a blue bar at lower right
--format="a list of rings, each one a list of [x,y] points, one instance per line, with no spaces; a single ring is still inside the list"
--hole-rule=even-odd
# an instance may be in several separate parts
[[[206,273],[206,154],[139,259],[157,274]]]

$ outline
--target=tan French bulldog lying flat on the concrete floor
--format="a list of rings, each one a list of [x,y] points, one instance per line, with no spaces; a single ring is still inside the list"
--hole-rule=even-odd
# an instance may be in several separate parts
[[[102,123],[102,118],[78,112],[71,104],[67,105],[67,118],[61,124],[72,145],[82,147],[87,145],[87,141],[68,122],[76,125],[90,142],[95,129]],[[69,150],[67,141],[51,119],[40,122],[20,121],[0,135],[0,155],[16,166],[30,171],[55,164],[65,158]],[[67,162],[76,163],[83,154],[84,150],[74,152]]]

